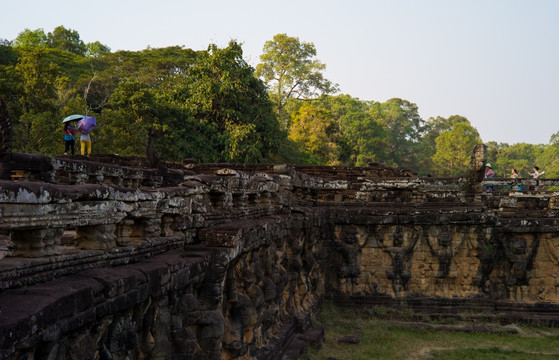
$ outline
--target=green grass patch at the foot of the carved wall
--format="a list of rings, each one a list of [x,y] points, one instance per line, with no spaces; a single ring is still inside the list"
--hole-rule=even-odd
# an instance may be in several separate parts
[[[303,359],[559,359],[559,329],[522,327],[518,334],[458,332],[393,321],[411,317],[410,309],[349,309],[325,302],[315,324],[325,329],[326,340],[320,350],[309,350]],[[343,336],[358,336],[360,343],[339,343]]]

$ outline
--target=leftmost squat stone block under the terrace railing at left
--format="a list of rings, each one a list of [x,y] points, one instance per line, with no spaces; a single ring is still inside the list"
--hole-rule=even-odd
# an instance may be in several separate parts
[[[12,231],[16,250],[11,256],[41,257],[60,254],[60,238],[63,228]]]

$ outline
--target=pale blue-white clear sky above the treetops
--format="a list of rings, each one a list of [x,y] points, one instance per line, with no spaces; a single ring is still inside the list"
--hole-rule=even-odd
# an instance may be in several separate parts
[[[66,0],[0,6],[0,39],[76,30],[117,50],[242,43],[256,66],[285,33],[313,43],[340,93],[466,117],[484,142],[559,132],[559,0]]]

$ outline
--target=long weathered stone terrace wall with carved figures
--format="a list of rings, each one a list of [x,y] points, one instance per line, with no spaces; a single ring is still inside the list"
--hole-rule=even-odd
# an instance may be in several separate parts
[[[559,325],[559,193],[483,193],[475,169],[3,159],[26,176],[0,180],[0,359],[296,358],[324,298]]]

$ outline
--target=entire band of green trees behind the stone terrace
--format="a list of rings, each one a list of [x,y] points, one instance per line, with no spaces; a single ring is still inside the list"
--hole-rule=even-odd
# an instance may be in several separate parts
[[[364,101],[333,95],[313,43],[278,34],[256,69],[242,47],[210,44],[117,51],[84,43],[63,26],[23,30],[0,41],[0,97],[13,121],[13,150],[64,149],[62,119],[97,118],[93,151],[145,156],[148,130],[163,160],[287,162],[368,166],[381,162],[419,175],[468,170],[482,140],[460,115],[424,120],[400,98]],[[549,145],[488,142],[497,176],[537,165],[559,177],[559,132]]]

